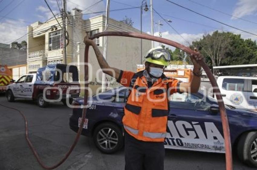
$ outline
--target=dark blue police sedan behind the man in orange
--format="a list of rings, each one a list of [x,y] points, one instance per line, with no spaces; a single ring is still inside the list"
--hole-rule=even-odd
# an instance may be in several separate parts
[[[89,98],[82,135],[93,137],[103,153],[114,153],[124,144],[122,117],[129,94],[126,87]],[[198,92],[170,98],[165,148],[225,153],[219,107],[215,99]],[[83,98],[73,102],[70,128],[77,132]],[[257,113],[226,105],[233,151],[248,165],[257,167]]]

